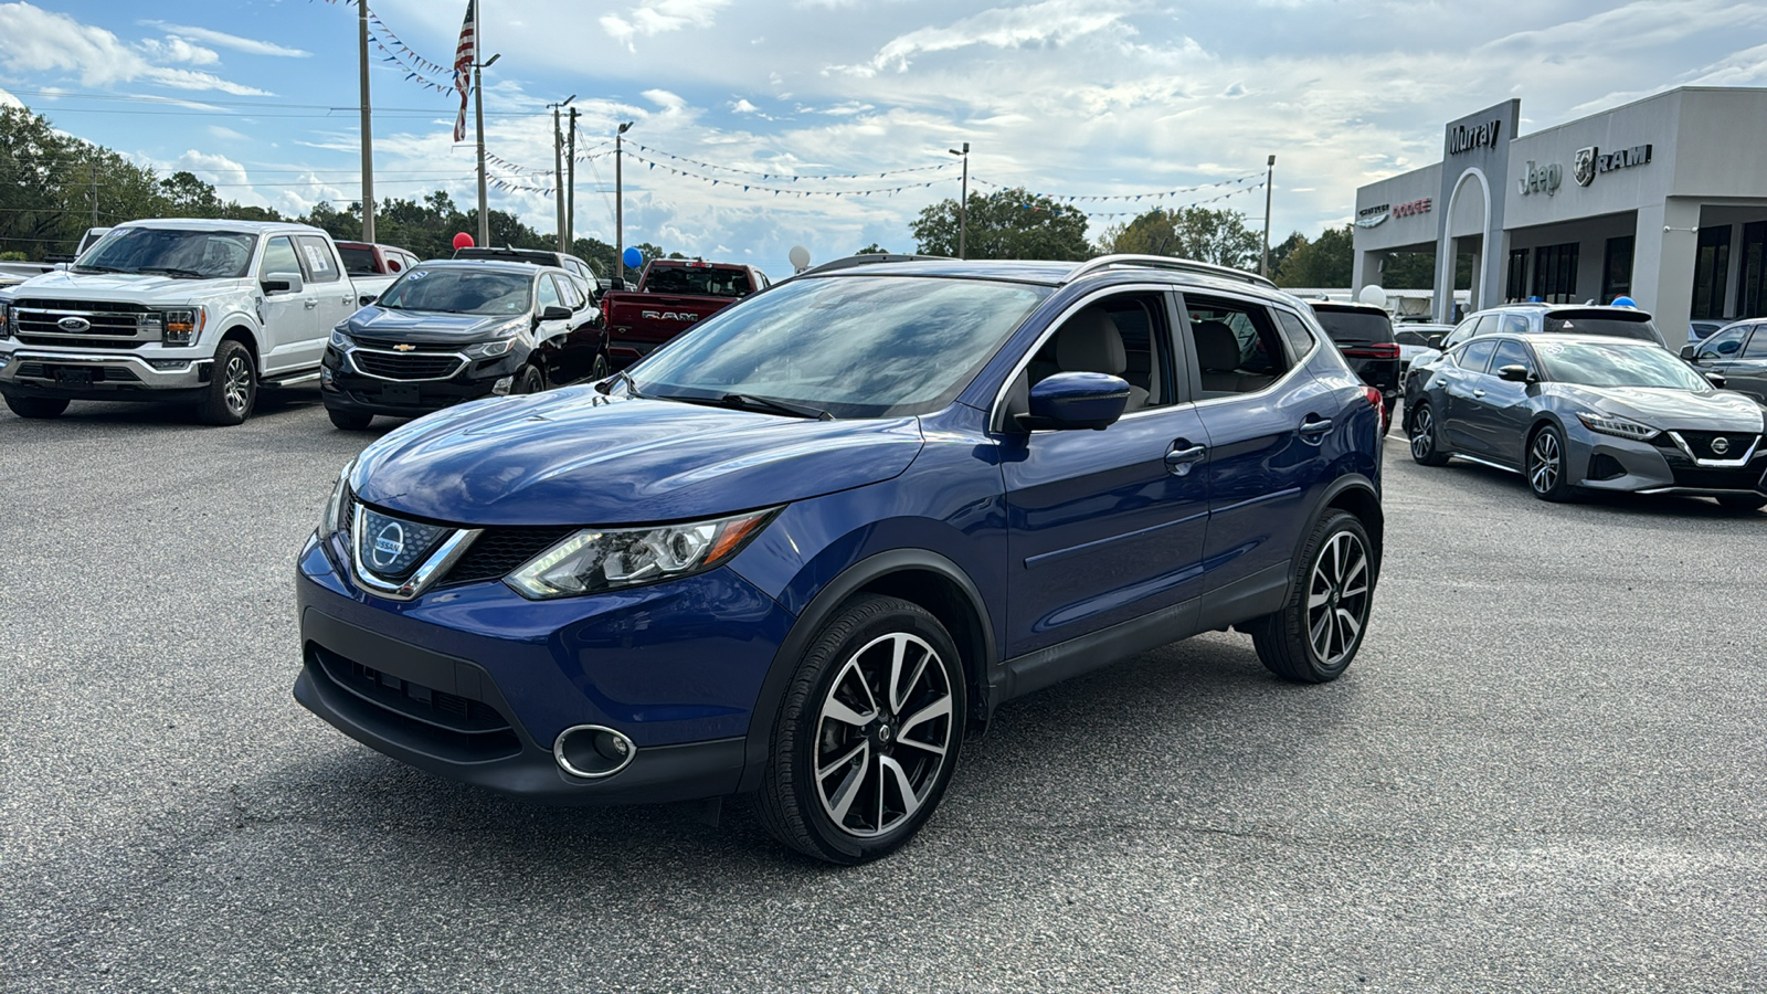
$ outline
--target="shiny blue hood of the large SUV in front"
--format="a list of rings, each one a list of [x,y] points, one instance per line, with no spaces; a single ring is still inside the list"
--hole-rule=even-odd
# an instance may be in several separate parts
[[[421,417],[369,446],[362,501],[472,525],[622,525],[728,515],[891,479],[914,417],[809,421],[567,387]]]

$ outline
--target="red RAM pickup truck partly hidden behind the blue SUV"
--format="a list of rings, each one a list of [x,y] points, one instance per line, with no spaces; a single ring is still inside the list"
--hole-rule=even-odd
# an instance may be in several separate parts
[[[627,366],[652,348],[767,288],[767,274],[739,262],[656,258],[633,290],[608,290],[601,313],[608,322],[608,361]]]

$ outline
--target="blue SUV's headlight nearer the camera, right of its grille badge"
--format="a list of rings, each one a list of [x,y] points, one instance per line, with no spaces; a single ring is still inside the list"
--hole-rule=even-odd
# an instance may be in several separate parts
[[[691,577],[735,555],[777,511],[643,529],[583,529],[504,582],[525,598],[551,600]]]

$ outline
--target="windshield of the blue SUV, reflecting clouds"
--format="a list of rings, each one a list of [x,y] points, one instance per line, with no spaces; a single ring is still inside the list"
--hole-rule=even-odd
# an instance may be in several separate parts
[[[781,283],[633,368],[643,394],[751,394],[836,417],[951,403],[1048,287],[910,276]]]

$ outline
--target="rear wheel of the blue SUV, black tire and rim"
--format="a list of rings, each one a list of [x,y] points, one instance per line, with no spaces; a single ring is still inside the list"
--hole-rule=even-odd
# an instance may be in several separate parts
[[[1368,633],[1378,580],[1368,529],[1348,511],[1329,511],[1295,562],[1293,591],[1276,614],[1242,626],[1258,660],[1297,683],[1343,676]]]

